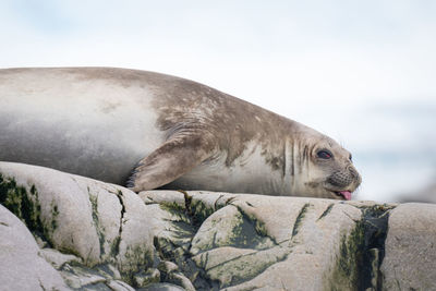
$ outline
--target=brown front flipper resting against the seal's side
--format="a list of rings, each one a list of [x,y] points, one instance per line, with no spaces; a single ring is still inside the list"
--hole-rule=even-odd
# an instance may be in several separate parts
[[[140,161],[126,185],[140,192],[168,184],[208,158],[214,148],[206,136],[172,137]]]

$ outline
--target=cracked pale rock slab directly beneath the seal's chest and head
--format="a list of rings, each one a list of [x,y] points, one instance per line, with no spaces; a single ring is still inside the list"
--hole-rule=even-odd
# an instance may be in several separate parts
[[[157,201],[158,193],[140,196]],[[182,194],[185,204],[180,203]],[[322,290],[360,283],[355,257],[364,243],[358,239],[364,235],[363,209],[377,208],[374,203],[361,209],[300,197],[210,192],[165,196],[164,208],[154,208],[160,217],[157,247],[165,259],[179,252],[184,263],[175,263],[198,289]],[[182,238],[190,237],[186,248]]]

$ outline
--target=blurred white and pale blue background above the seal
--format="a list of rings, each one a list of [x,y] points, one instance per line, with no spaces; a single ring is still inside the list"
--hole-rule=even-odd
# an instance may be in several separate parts
[[[358,199],[436,183],[436,1],[0,1],[0,68],[191,78],[353,153]],[[435,193],[436,195],[436,193]]]

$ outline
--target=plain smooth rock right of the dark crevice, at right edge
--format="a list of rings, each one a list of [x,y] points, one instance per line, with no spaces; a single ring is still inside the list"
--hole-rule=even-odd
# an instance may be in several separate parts
[[[393,209],[385,252],[384,290],[436,290],[436,205],[410,203]]]

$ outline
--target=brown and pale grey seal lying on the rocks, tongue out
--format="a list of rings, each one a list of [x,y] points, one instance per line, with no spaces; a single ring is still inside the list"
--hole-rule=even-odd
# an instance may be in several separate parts
[[[156,187],[350,199],[349,151],[208,86],[113,68],[0,70],[0,160],[140,192]]]

